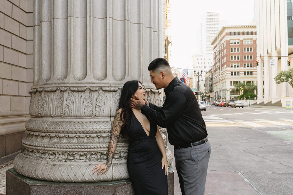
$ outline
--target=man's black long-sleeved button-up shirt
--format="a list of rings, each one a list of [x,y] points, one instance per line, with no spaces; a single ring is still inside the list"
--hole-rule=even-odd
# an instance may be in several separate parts
[[[178,146],[207,137],[205,121],[192,90],[175,77],[164,92],[163,107],[150,103],[142,106],[142,113],[156,125],[167,127],[170,144]]]

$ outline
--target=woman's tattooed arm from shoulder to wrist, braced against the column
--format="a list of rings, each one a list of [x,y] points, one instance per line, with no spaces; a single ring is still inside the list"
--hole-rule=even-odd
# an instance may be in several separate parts
[[[110,138],[110,142],[108,146],[108,158],[106,163],[107,169],[110,168],[112,164],[113,156],[117,147],[117,142],[118,142],[119,134],[121,131],[122,121],[120,118],[120,114],[121,112],[117,111],[113,121],[112,134],[111,134],[111,138]]]

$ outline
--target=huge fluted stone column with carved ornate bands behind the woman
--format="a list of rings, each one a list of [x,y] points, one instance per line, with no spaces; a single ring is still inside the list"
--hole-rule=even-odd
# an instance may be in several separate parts
[[[147,99],[161,103],[147,70],[163,56],[161,15],[159,0],[35,0],[31,119],[14,161],[18,173],[61,182],[129,177],[121,138],[110,170],[97,177],[92,169],[107,159],[126,81],[142,81]]]

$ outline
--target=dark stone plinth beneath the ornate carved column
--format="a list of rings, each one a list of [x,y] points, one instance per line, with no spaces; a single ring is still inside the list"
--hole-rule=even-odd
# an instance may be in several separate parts
[[[65,183],[35,180],[11,168],[6,171],[7,195],[23,194],[134,194],[130,180],[92,183]],[[168,173],[168,194],[174,194],[174,173]]]

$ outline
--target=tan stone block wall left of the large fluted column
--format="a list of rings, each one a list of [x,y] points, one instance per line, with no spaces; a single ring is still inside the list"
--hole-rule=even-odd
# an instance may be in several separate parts
[[[0,158],[19,151],[33,85],[33,0],[0,0]]]

